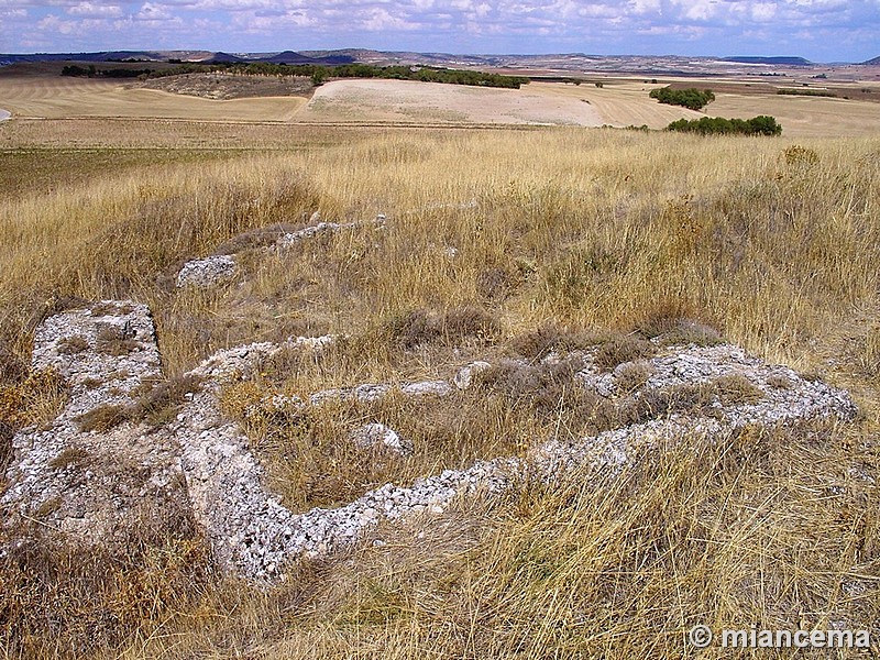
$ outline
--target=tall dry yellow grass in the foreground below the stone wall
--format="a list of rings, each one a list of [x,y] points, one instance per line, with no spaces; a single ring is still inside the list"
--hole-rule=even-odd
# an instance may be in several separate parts
[[[673,658],[695,623],[870,626],[877,493],[838,476],[842,451],[821,427],[694,438],[617,480],[380,529],[270,592],[222,585],[121,657]]]

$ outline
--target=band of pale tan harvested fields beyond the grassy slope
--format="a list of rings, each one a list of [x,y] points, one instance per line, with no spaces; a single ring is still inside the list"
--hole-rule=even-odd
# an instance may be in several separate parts
[[[688,84],[703,87],[712,81]],[[346,125],[607,124],[662,129],[678,119],[703,117],[649,98],[648,92],[658,86],[616,79],[603,88],[586,82],[532,82],[519,90],[505,90],[400,80],[339,80],[318,88],[309,101],[300,97],[217,101],[112,80],[0,76],[0,109],[15,118]],[[725,91],[716,97],[705,114],[743,119],[770,114],[791,138],[880,133],[880,103],[876,102],[755,94],[745,87],[743,94]]]

